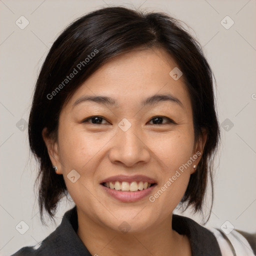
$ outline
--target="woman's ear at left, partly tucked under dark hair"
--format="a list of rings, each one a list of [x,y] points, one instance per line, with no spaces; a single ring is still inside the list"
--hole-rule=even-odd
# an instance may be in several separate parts
[[[42,138],[43,138],[43,141],[44,141],[44,143],[47,147],[48,155],[50,157],[52,165],[57,166],[56,173],[57,174],[62,174],[61,164],[60,164],[60,161],[59,161],[58,143],[57,143],[56,139],[52,138],[48,134],[46,127],[44,127],[42,129]]]

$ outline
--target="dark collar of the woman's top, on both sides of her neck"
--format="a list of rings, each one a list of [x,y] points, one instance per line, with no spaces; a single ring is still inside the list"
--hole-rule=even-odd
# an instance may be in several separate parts
[[[76,206],[65,212],[61,224],[47,236],[38,248],[39,255],[77,255],[91,256],[78,235]],[[218,243],[214,235],[194,220],[172,215],[172,228],[179,234],[188,236],[193,256],[221,256]]]

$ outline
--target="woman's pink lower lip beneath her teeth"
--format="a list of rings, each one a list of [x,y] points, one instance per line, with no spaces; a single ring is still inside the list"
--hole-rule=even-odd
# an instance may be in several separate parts
[[[156,184],[154,184],[146,189],[142,189],[142,190],[138,190],[138,191],[134,191],[134,192],[115,190],[115,189],[108,188],[104,185],[101,185],[101,186],[106,191],[106,193],[108,193],[109,195],[111,195],[112,197],[114,197],[115,199],[117,199],[121,202],[135,202],[135,201],[139,201],[142,198],[149,195],[151,193],[151,191],[154,189],[154,187],[156,186]]]

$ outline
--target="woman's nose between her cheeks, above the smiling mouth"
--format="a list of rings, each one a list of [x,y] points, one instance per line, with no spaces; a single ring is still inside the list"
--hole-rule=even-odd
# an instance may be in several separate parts
[[[131,167],[149,161],[150,150],[146,145],[146,141],[143,141],[145,139],[132,126],[126,131],[117,130],[108,154],[112,163]]]

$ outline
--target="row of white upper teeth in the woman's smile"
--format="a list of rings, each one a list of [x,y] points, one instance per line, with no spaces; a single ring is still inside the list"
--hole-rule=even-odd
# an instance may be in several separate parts
[[[115,181],[115,182],[105,182],[104,186],[115,189],[115,190],[122,190],[122,191],[137,191],[137,190],[142,190],[146,189],[149,187],[151,183],[148,182],[143,182],[139,181],[132,181],[132,182],[127,182],[127,181]]]

